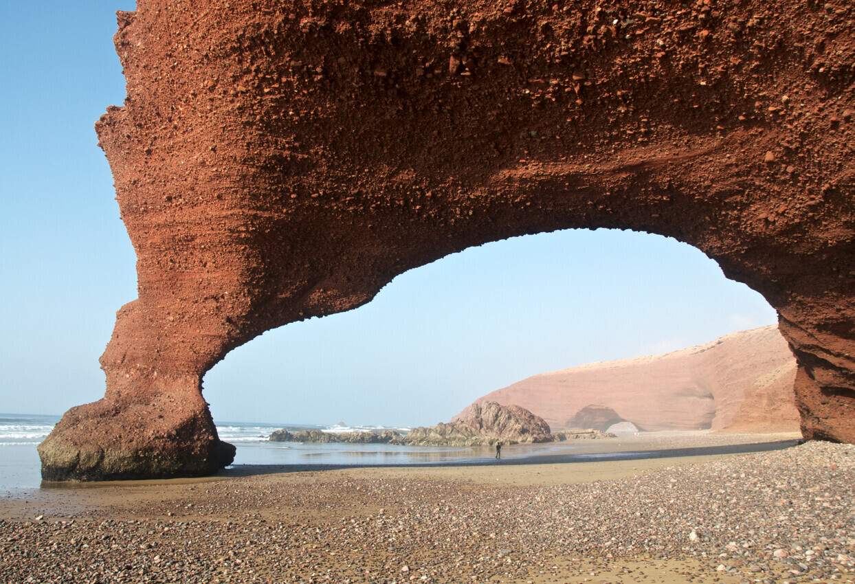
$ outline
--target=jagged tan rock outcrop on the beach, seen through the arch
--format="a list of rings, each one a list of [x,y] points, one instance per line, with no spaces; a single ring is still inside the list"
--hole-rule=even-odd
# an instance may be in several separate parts
[[[404,444],[420,446],[475,446],[496,442],[519,444],[551,442],[549,424],[518,405],[495,402],[471,404],[451,418],[429,428],[413,428]]]

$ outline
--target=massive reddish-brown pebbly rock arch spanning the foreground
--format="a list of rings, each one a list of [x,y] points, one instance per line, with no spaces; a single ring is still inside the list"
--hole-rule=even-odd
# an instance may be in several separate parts
[[[852,6],[139,0],[98,122],[139,298],[48,479],[231,459],[205,371],[471,245],[669,235],[762,293],[807,438],[855,441]]]

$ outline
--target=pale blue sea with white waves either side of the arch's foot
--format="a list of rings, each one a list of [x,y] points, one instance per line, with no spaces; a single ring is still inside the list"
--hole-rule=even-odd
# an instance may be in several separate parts
[[[36,446],[59,422],[59,416],[32,416],[0,413],[0,495],[20,493],[41,485]],[[239,465],[374,465],[420,464],[466,461],[492,457],[489,448],[455,448],[386,444],[300,444],[270,442],[268,436],[280,428],[320,429],[324,432],[410,428],[348,426],[343,422],[328,426],[310,424],[268,424],[258,422],[215,422],[220,439],[237,446],[233,466]]]

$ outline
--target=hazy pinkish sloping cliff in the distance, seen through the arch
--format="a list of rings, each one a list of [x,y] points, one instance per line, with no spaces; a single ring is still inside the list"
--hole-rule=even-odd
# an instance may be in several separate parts
[[[796,363],[777,327],[732,333],[664,355],[528,377],[476,403],[518,404],[552,428],[796,431]]]

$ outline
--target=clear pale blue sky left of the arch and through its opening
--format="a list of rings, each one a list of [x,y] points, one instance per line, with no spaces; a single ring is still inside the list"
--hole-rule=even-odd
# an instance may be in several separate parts
[[[0,3],[0,411],[103,395],[97,357],[136,296],[134,257],[93,124],[121,104],[115,10]],[[219,420],[422,424],[545,370],[670,351],[775,322],[700,251],[567,231],[463,251],[359,310],[233,351],[204,381]]]

